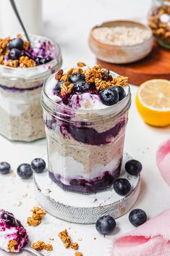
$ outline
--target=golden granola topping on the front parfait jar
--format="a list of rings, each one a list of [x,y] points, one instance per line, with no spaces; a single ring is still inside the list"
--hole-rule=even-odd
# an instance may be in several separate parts
[[[113,77],[109,74],[109,70],[103,70],[101,65],[96,65],[93,68],[87,67],[85,70],[81,68],[85,66],[85,63],[78,62],[77,66],[78,67],[71,68],[69,71],[67,71],[67,73],[64,73],[63,70],[59,70],[59,72],[56,73],[56,80],[58,82],[63,81],[63,83],[61,83],[61,97],[72,94],[74,84],[70,83],[69,75],[74,73],[82,73],[85,75],[85,82],[90,84],[93,91],[100,92],[104,88],[111,86],[127,86],[128,84],[127,77]]]

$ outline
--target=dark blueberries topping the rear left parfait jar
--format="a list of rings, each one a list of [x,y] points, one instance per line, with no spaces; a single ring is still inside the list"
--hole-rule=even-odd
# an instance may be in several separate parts
[[[22,38],[13,38],[11,41],[9,41],[8,49],[8,57],[12,60],[20,59],[21,56],[27,56],[35,60],[36,65],[42,65],[52,60],[51,57],[36,57],[35,59],[31,57],[30,53],[24,50],[24,41],[22,40]]]

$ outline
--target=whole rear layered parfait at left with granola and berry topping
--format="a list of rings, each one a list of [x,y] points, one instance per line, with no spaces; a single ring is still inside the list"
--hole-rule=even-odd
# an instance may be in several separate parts
[[[30,35],[0,39],[0,133],[11,140],[45,136],[40,104],[44,80],[61,67],[59,46]]]

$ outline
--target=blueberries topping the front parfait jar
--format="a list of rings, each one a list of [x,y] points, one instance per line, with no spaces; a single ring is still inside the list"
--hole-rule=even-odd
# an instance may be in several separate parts
[[[108,75],[108,77],[110,76],[111,75]],[[106,75],[104,79],[107,79]],[[112,79],[112,76],[111,76],[111,79]],[[56,83],[55,90],[57,91],[58,94],[61,91],[61,85],[65,82],[66,82],[65,80],[61,80],[58,83]],[[87,91],[92,91],[92,92],[95,91],[95,87],[93,86],[93,84],[87,83],[85,81],[85,75],[82,73],[73,73],[72,75],[69,75],[69,82],[74,84],[72,89],[73,94],[74,93],[82,94]],[[124,91],[124,88],[122,86],[104,88],[100,92],[101,102],[103,102],[103,104],[107,106],[116,104],[117,102],[124,99],[125,96],[126,96],[126,92]]]

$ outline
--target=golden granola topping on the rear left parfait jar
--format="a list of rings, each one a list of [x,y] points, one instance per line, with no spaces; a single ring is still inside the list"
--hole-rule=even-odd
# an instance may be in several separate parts
[[[17,38],[22,38],[21,35],[17,35]],[[0,65],[5,65],[7,67],[35,67],[35,60],[22,55],[19,59],[10,59],[9,58],[9,42],[11,41],[10,37],[0,38]],[[23,40],[23,51],[27,51],[30,48],[30,43],[26,40]]]

